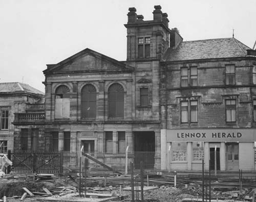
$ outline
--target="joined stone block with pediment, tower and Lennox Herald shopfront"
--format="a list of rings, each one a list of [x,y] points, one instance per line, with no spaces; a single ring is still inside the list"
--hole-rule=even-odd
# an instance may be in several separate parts
[[[234,38],[183,42],[161,6],[153,20],[127,16],[126,61],[86,48],[47,65],[45,119],[17,119],[17,139],[38,130],[37,149],[65,151],[70,167],[82,145],[124,167],[129,146],[136,167],[197,170],[216,146],[219,169],[253,169],[255,50]]]

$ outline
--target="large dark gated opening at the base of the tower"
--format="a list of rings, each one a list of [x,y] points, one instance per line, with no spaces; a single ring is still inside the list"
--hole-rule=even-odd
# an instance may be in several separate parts
[[[144,168],[153,169],[155,164],[155,132],[135,132],[134,133],[134,154],[135,168],[140,168],[143,162]]]

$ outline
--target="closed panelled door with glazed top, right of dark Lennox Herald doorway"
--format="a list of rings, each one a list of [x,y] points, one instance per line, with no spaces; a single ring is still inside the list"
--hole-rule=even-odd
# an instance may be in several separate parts
[[[227,170],[239,169],[239,146],[238,143],[226,143]]]

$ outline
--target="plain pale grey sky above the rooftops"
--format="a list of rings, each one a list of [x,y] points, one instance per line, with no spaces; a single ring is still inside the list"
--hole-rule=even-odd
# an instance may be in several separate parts
[[[155,5],[184,41],[234,37],[256,40],[256,0],[0,0],[0,82],[21,82],[45,92],[46,64],[85,48],[126,60],[130,7],[152,20]]]

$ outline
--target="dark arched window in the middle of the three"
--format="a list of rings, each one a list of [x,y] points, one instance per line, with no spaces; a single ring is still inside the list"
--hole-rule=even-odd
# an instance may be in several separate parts
[[[86,85],[81,90],[81,118],[96,117],[96,89],[93,85]]]

